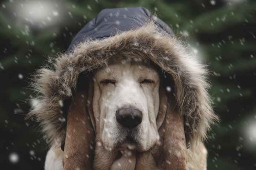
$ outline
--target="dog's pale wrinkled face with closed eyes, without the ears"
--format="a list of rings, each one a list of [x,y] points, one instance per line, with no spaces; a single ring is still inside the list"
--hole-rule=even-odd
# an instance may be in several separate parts
[[[158,140],[158,71],[143,62],[114,62],[94,75],[96,140],[105,149],[131,144],[147,151]]]

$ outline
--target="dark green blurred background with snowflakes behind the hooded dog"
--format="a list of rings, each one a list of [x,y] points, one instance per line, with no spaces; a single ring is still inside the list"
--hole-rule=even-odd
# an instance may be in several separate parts
[[[44,169],[44,136],[24,119],[31,74],[102,9],[136,6],[157,14],[209,65],[221,122],[206,142],[208,169],[256,169],[256,1],[249,0],[0,1],[1,169]]]

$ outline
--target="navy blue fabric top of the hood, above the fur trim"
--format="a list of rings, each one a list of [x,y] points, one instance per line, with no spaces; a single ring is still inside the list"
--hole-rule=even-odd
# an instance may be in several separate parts
[[[115,35],[117,32],[124,32],[142,27],[146,22],[153,21],[159,29],[173,35],[172,29],[161,19],[151,14],[144,7],[131,8],[108,8],[103,9],[99,14],[89,21],[75,36],[67,53],[79,43],[87,39],[104,39]]]

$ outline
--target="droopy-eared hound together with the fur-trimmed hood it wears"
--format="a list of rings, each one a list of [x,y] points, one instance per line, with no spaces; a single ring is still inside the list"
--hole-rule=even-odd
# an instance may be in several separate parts
[[[125,22],[106,29],[116,12]],[[204,66],[142,7],[105,9],[83,29],[32,83],[45,169],[206,169],[203,141],[218,117]]]

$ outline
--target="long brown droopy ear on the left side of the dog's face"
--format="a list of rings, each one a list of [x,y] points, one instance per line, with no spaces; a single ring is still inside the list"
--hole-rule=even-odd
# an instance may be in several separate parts
[[[67,117],[67,131],[64,147],[64,169],[93,169],[95,122],[91,107],[93,90],[91,83],[86,90],[74,96]],[[92,92],[91,92],[92,91]],[[92,94],[91,94],[92,93]]]

